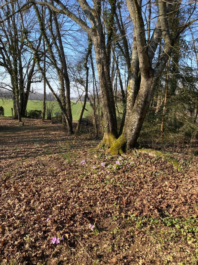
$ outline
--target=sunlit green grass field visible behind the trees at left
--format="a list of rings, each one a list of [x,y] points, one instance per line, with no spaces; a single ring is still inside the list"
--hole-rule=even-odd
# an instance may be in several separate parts
[[[46,102],[48,104],[48,102]],[[72,116],[73,120],[78,120],[79,115],[80,115],[80,110],[82,108],[82,104],[79,103],[72,103]],[[5,116],[12,116],[11,108],[13,107],[13,100],[11,99],[0,99],[0,106],[4,107],[4,115]],[[28,105],[27,105],[27,110],[42,110],[43,109],[43,101],[40,100],[28,100]],[[92,111],[91,106],[89,102],[86,104],[86,109],[88,111]],[[53,116],[54,112],[60,112],[60,107],[58,106],[57,102],[55,102],[55,108],[53,111]],[[84,111],[83,117],[86,117],[89,115],[89,112],[86,110]]]

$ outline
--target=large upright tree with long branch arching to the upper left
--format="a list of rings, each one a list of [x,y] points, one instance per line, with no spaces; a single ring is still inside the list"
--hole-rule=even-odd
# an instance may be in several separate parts
[[[75,21],[89,36],[92,38],[94,44],[94,51],[97,64],[97,72],[100,83],[100,91],[102,95],[102,108],[104,115],[104,141],[106,143],[112,143],[116,137],[117,133],[117,120],[116,120],[116,108],[114,103],[114,95],[111,86],[110,77],[110,55],[111,55],[111,37],[112,37],[112,23],[114,19],[115,5],[116,1],[110,2],[111,13],[109,15],[109,32],[107,34],[107,43],[105,40],[105,35],[103,32],[102,22],[101,22],[101,1],[96,0],[93,3],[93,8],[89,6],[86,0],[77,1],[79,7],[83,11],[83,16],[85,16],[89,23],[78,17],[74,12],[67,8],[60,0],[55,0],[60,8],[53,5],[53,2],[42,2],[42,1],[31,1],[31,4],[39,4],[48,6],[53,12],[65,14]],[[24,6],[27,6],[27,2]],[[77,14],[79,14],[77,12]]]

